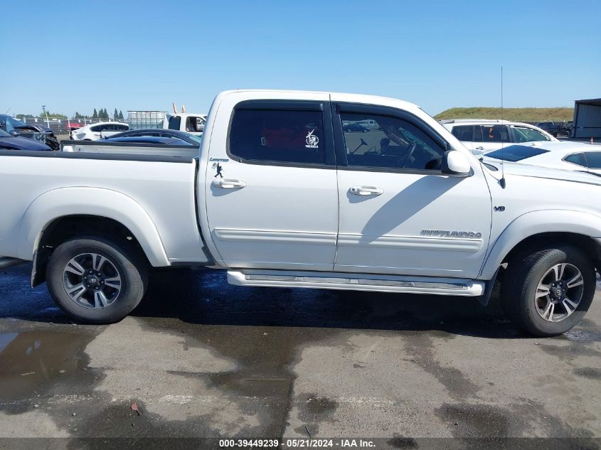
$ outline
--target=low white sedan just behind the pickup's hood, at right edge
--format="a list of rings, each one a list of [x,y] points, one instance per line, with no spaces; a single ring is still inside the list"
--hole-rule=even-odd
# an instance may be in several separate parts
[[[482,155],[486,164],[499,165],[502,161],[529,164],[568,171],[594,173],[601,176],[601,146],[580,142],[536,142],[514,144]]]

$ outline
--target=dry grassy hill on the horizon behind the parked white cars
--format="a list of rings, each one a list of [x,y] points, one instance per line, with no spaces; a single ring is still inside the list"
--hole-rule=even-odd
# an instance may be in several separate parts
[[[504,108],[503,118],[512,122],[563,122],[574,117],[574,108]],[[501,108],[451,108],[435,119],[501,119]]]

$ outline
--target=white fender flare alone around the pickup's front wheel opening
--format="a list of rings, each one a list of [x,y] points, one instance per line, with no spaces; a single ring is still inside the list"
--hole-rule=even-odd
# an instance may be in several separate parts
[[[601,217],[571,210],[540,210],[526,213],[511,222],[489,250],[480,279],[491,279],[509,252],[527,237],[544,232],[571,232],[601,237]]]

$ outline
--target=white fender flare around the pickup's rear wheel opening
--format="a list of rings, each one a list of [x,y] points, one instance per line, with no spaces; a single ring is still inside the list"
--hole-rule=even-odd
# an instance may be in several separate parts
[[[155,267],[169,266],[159,232],[133,198],[104,188],[58,188],[33,200],[19,227],[18,257],[31,260],[46,227],[69,215],[95,215],[121,223],[132,232]]]

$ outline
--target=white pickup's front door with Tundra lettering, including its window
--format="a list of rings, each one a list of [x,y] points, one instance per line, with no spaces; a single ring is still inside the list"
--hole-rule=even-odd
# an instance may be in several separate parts
[[[444,139],[412,114],[344,103],[333,114],[340,198],[334,270],[477,277],[491,198],[475,159],[472,176],[445,176]],[[343,131],[366,119],[378,129]]]

